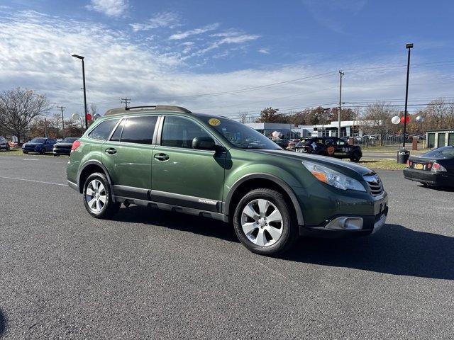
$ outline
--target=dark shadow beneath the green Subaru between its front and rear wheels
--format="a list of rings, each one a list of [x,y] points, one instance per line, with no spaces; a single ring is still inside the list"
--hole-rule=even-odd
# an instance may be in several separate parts
[[[227,223],[179,212],[132,205],[129,208],[121,208],[114,216],[114,220],[157,225],[203,236],[216,237],[226,241],[239,242],[233,228]]]

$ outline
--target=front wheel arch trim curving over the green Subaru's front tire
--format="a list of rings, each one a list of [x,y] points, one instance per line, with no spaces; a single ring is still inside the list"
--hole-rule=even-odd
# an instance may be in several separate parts
[[[257,185],[259,185],[260,188],[274,188],[277,189],[277,191],[284,193],[292,203],[292,208],[297,215],[298,225],[304,225],[303,212],[294,191],[285,183],[285,181],[271,174],[248,174],[238,179],[228,192],[226,202],[223,204],[223,213],[228,215],[229,219],[231,219],[231,217],[233,217],[234,203],[240,200],[241,194],[245,193],[245,191],[258,188]]]

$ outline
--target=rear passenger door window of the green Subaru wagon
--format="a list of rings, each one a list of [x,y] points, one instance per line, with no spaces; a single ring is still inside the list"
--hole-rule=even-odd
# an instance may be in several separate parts
[[[123,123],[121,142],[151,144],[156,121],[157,115],[127,118]]]

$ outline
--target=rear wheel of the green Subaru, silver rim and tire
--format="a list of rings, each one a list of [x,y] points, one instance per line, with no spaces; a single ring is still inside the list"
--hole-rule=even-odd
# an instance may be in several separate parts
[[[84,205],[90,215],[107,218],[120,209],[121,203],[112,201],[109,181],[106,175],[95,172],[84,183]]]

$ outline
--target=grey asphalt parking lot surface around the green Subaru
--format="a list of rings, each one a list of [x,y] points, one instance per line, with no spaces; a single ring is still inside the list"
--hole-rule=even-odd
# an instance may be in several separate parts
[[[95,220],[66,162],[0,156],[6,339],[454,337],[453,191],[377,171],[380,232],[267,258],[213,220],[134,206]]]

